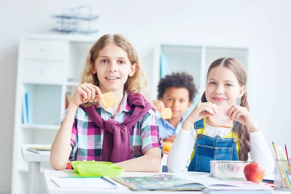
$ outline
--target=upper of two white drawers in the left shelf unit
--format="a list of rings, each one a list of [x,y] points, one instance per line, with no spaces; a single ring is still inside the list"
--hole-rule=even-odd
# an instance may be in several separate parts
[[[64,60],[66,50],[65,41],[26,39],[23,43],[24,59]]]

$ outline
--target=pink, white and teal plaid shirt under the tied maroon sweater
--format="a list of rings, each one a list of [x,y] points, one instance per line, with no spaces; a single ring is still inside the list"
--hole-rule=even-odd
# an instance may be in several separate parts
[[[125,94],[117,112],[112,115],[98,103],[97,113],[105,120],[116,120],[123,123],[132,110],[128,104],[128,94]],[[62,122],[65,118],[65,111]],[[163,142],[159,136],[157,116],[153,109],[149,110],[142,119],[129,129],[131,159],[143,156],[152,147],[160,147],[163,154]],[[72,151],[70,161],[102,161],[102,144],[104,129],[97,129],[95,123],[80,107],[77,109],[71,133]]]

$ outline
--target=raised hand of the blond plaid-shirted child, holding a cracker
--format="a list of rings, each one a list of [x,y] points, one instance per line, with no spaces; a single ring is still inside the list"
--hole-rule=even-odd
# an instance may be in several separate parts
[[[75,90],[69,105],[79,106],[86,102],[92,102],[102,98],[102,92],[99,87],[92,83],[81,83]]]

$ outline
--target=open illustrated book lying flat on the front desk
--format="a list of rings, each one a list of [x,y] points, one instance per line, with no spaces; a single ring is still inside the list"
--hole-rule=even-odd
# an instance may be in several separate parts
[[[205,193],[258,193],[271,194],[273,188],[243,179],[219,180],[205,176],[175,176],[171,174],[147,177],[115,177],[116,182],[128,186],[131,190],[192,191],[203,190]],[[224,191],[224,192],[223,192]]]

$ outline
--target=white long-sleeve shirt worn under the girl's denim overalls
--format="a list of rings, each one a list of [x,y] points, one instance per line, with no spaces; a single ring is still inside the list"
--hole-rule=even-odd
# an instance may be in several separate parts
[[[215,137],[225,136],[231,132],[228,128],[216,128],[206,124],[206,135]],[[169,172],[181,172],[186,170],[186,165],[190,162],[190,157],[194,151],[196,130],[180,129],[168,155],[167,167]],[[270,175],[274,170],[274,159],[272,153],[260,130],[250,133],[251,160],[263,165],[265,176]]]

